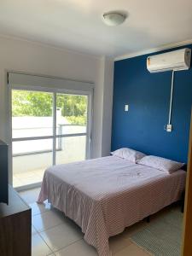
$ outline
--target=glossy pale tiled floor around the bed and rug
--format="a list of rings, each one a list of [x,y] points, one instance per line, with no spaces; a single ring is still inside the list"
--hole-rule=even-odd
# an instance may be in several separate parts
[[[36,203],[38,193],[39,189],[20,192],[32,207],[32,256],[96,256],[95,248],[84,242],[84,235],[73,221],[51,207],[48,202],[44,205]],[[142,221],[127,228],[119,236],[110,238],[109,245],[113,255],[148,256],[148,253],[129,239],[133,232],[146,224]]]

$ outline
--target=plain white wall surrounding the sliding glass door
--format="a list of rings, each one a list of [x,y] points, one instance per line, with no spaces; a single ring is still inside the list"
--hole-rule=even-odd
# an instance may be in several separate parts
[[[0,138],[9,143],[6,71],[50,75],[95,83],[92,157],[108,154],[112,109],[107,101],[111,106],[113,84],[111,72],[105,72],[106,67],[108,61],[96,56],[15,38],[0,38]],[[107,120],[103,119],[103,114],[108,116]],[[102,147],[105,149],[102,150]]]

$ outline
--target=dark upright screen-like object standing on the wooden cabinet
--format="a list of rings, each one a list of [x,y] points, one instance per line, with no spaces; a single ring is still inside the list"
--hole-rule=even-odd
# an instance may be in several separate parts
[[[8,145],[0,140],[0,203],[9,203]]]

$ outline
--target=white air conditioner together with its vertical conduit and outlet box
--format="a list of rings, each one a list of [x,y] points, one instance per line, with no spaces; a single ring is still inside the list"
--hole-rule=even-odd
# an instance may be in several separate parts
[[[166,131],[172,131],[172,98],[174,72],[190,68],[191,49],[177,49],[165,54],[152,55],[147,58],[147,68],[150,73],[172,71],[172,87],[170,96],[169,118],[165,125]]]

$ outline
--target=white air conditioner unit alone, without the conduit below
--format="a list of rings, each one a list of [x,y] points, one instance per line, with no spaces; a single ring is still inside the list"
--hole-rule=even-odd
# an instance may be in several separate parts
[[[191,49],[189,48],[148,56],[147,68],[150,73],[186,70],[190,67],[190,56]]]

